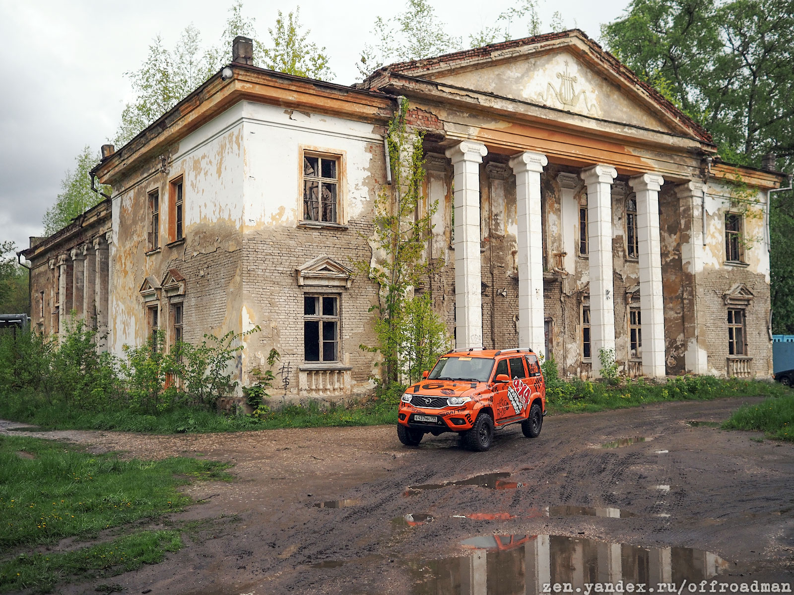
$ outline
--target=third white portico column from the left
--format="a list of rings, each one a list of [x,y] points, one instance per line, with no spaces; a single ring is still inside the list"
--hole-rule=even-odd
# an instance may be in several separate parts
[[[592,370],[600,377],[599,351],[615,351],[615,290],[612,284],[612,181],[615,167],[582,170],[588,186],[588,259],[590,263],[590,335]]]

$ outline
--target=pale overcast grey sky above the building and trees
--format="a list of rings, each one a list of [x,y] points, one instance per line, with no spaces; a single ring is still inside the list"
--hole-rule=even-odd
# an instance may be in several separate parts
[[[0,240],[28,246],[42,232],[41,218],[60,191],[64,172],[86,144],[94,151],[114,136],[130,99],[124,73],[145,58],[153,36],[172,48],[193,23],[204,44],[217,44],[231,0],[0,0]],[[468,39],[515,0],[433,0],[447,31]],[[594,39],[599,26],[619,17],[627,0],[540,0],[548,25],[559,10],[567,27]],[[311,40],[325,46],[337,83],[357,79],[356,62],[376,16],[391,17],[399,2],[245,2],[265,40],[279,8],[301,7]],[[520,30],[518,30],[520,28]],[[544,32],[545,32],[544,27]],[[515,37],[526,35],[515,25]]]

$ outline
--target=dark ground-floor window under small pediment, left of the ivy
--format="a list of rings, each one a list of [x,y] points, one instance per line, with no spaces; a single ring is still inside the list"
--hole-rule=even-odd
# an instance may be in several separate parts
[[[338,296],[303,296],[303,359],[306,362],[339,360]]]

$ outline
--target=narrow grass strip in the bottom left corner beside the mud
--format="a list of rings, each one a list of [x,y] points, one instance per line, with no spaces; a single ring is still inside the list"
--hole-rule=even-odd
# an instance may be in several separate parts
[[[63,553],[19,555],[0,562],[0,593],[21,589],[47,593],[56,585],[80,578],[116,576],[162,562],[166,551],[182,547],[179,531],[143,531]]]

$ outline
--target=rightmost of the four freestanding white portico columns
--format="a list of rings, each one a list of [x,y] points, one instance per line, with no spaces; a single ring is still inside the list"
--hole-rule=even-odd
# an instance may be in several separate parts
[[[642,312],[642,374],[660,378],[665,369],[665,301],[661,290],[659,189],[665,178],[636,175],[629,185],[637,194],[637,246]]]

